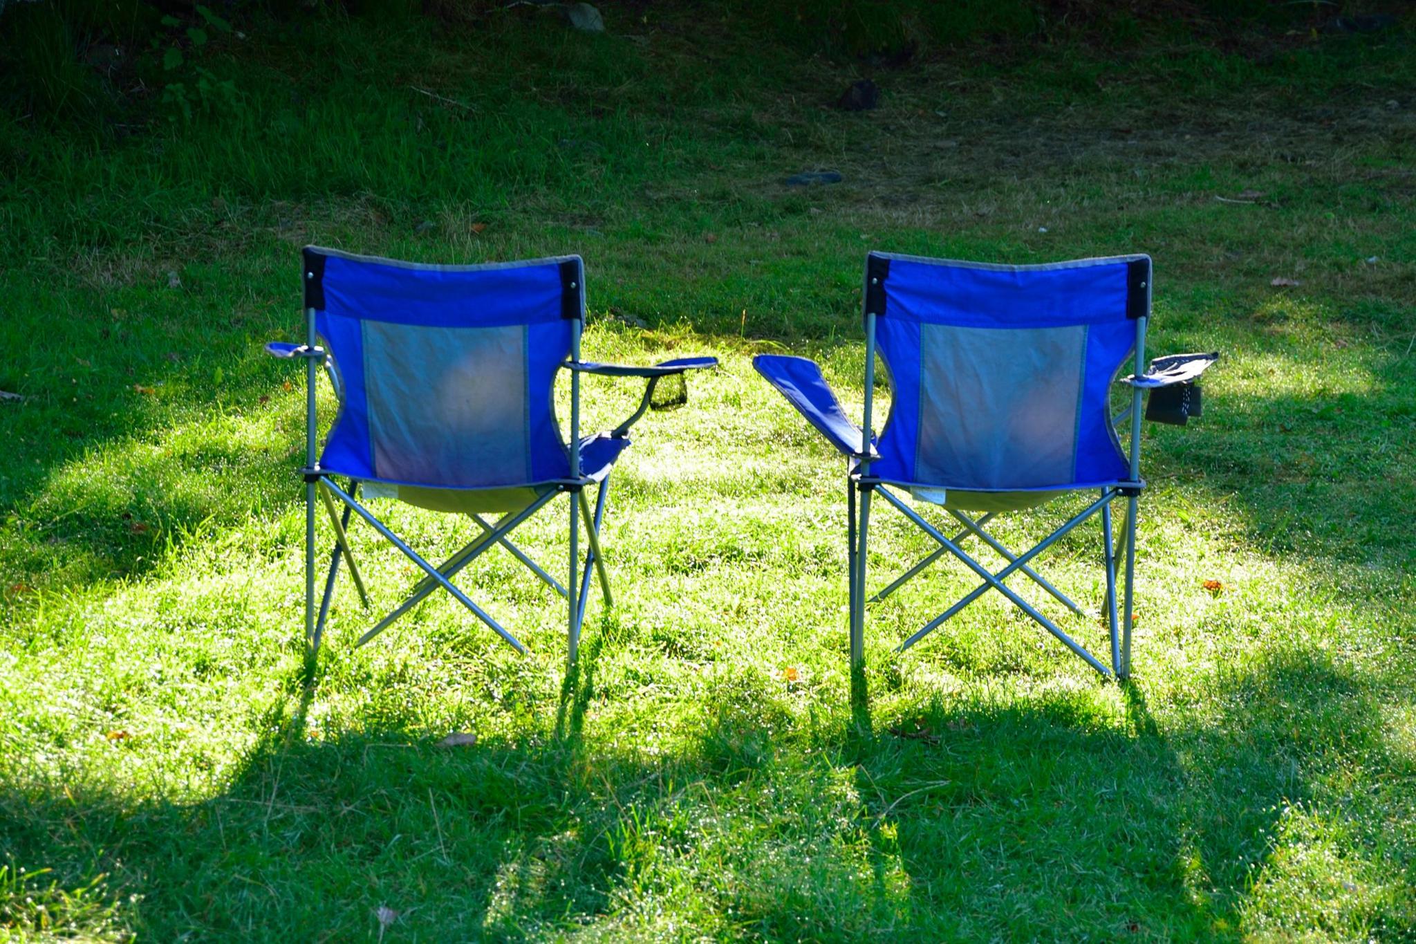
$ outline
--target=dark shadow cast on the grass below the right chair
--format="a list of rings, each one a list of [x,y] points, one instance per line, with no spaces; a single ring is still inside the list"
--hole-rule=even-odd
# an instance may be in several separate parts
[[[1238,937],[1286,812],[1383,735],[1374,692],[1325,652],[1277,651],[1215,689],[1202,723],[1155,719],[1131,682],[1123,725],[1076,692],[935,699],[858,742],[872,842],[898,851],[922,930],[1035,940],[1086,916],[1117,937]],[[1372,927],[1412,917],[1375,907]]]

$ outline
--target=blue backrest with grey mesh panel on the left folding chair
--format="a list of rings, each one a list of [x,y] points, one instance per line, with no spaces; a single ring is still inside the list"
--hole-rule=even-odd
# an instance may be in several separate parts
[[[579,256],[428,266],[309,246],[303,275],[341,388],[321,468],[439,488],[569,477],[554,392],[578,357]]]

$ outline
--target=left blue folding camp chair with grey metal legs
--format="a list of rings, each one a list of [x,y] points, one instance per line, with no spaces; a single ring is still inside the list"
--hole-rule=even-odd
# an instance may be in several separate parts
[[[355,645],[442,587],[525,652],[520,640],[452,583],[457,572],[500,546],[566,599],[573,662],[592,568],[605,604],[612,603],[599,532],[610,468],[630,444],[629,429],[647,409],[687,399],[681,375],[716,359],[687,358],[657,367],[581,361],[585,272],[579,256],[429,266],[307,246],[303,275],[306,343],[268,344],[266,350],[306,364],[304,631],[310,650],[319,650],[341,560],[368,606],[347,535],[351,514],[357,514],[426,576]],[[317,454],[319,365],[340,409]],[[561,368],[571,371],[569,443],[561,439],[554,406]],[[581,374],[644,378],[639,409],[609,432],[581,437]],[[657,395],[664,378],[675,378],[674,396]],[[334,476],[347,477],[347,484],[341,488]],[[598,485],[593,515],[585,494],[590,485]],[[466,514],[480,534],[435,568],[357,498],[361,488],[364,498],[396,498]],[[569,495],[569,579],[564,586],[508,539],[559,494]],[[336,500],[343,502],[343,515]],[[329,512],[334,548],[316,609],[317,501]],[[501,517],[493,524],[486,514]],[[583,565],[578,552],[582,521],[589,543]]]

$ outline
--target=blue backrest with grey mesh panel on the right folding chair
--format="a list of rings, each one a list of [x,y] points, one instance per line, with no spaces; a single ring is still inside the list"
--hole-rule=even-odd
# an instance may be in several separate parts
[[[1150,283],[1143,255],[997,266],[871,253],[867,333],[892,389],[871,474],[969,491],[1130,480],[1109,392],[1144,338]]]

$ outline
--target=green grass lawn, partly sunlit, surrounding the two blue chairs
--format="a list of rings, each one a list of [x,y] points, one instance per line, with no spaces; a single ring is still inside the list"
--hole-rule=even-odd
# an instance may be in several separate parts
[[[239,108],[7,119],[0,940],[1416,938],[1409,30],[954,50],[847,115],[861,67],[646,10],[256,24],[204,59]],[[588,355],[722,359],[616,473],[575,677],[489,555],[463,583],[531,657],[438,597],[351,650],[344,586],[304,684],[303,395],[261,352],[304,242],[579,252]],[[840,463],[749,361],[858,410],[872,248],[1146,251],[1151,350],[1223,351],[1204,419],[1146,429],[1133,685],[993,597],[893,655],[971,586],[939,566],[852,708]],[[590,423],[634,396],[588,385]],[[884,580],[927,548],[877,521]],[[1095,531],[1044,568],[1092,606]],[[354,534],[388,607],[415,575]]]

